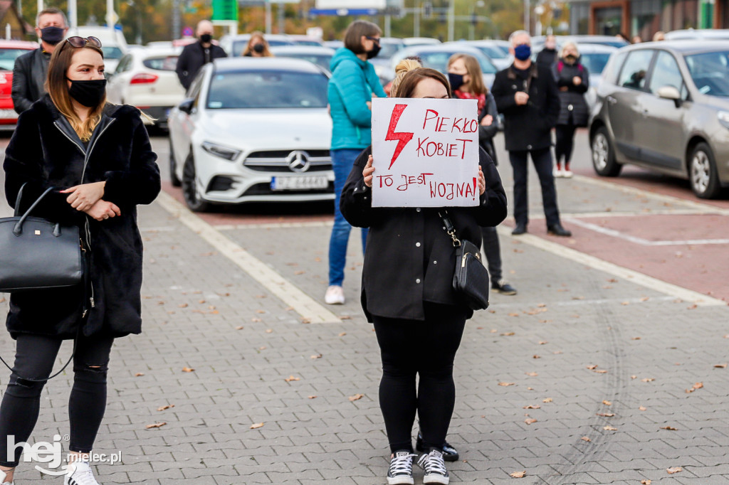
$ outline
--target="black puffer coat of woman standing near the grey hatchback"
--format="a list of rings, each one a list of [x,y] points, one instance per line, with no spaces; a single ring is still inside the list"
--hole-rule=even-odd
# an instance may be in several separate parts
[[[552,66],[552,74],[559,89],[560,106],[557,125],[569,125],[569,115],[572,114],[572,125],[587,126],[590,117],[588,103],[585,101],[585,92],[590,88],[588,68],[582,66],[579,61],[570,66],[560,60]],[[582,82],[575,85],[574,77],[579,77]],[[567,90],[562,90],[563,87],[566,87]]]

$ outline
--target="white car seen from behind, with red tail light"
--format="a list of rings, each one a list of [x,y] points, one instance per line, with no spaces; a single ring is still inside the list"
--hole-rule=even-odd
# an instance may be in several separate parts
[[[109,101],[136,106],[166,127],[171,109],[184,99],[175,73],[180,52],[179,47],[130,50],[106,85]]]

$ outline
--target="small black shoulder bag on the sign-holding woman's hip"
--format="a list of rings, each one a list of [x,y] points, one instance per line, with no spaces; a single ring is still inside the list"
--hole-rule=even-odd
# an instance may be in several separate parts
[[[481,250],[474,243],[459,240],[448,211],[438,213],[443,219],[445,232],[456,248],[456,269],[453,271],[453,290],[459,293],[472,310],[488,308],[488,270],[481,262]]]

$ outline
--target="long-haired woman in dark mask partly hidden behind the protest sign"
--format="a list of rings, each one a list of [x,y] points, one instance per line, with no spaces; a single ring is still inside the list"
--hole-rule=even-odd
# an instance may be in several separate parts
[[[453,54],[448,60],[448,81],[451,82],[454,98],[478,101],[478,143],[494,160],[494,165],[499,165],[494,146],[494,136],[499,133],[499,111],[496,110],[494,95],[483,84],[478,60],[468,54]],[[491,290],[502,295],[515,295],[516,289],[502,278],[501,248],[496,227],[482,227],[481,235],[491,276]]]

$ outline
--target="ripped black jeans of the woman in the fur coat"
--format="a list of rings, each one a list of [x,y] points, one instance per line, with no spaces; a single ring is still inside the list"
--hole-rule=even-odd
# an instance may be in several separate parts
[[[74,387],[71,388],[69,398],[69,450],[88,453],[93,449],[93,442],[106,410],[106,371],[114,337],[92,335],[79,336],[77,339]],[[28,441],[38,420],[45,382],[31,382],[26,379],[44,379],[50,376],[61,342],[61,339],[51,336],[17,336],[13,366],[15,370],[10,374],[7,390],[0,404],[1,466],[17,466],[23,452],[22,446],[16,446],[15,460],[8,460],[7,437],[14,435],[15,443]],[[52,439],[52,436],[38,437],[38,441],[50,442]]]

